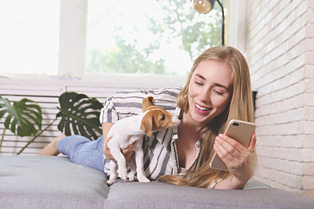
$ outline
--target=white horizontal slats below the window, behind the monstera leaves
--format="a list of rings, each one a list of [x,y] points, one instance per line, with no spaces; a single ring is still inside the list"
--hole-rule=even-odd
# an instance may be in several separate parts
[[[25,80],[25,79],[24,79]],[[2,80],[1,80],[2,81]],[[108,82],[97,83],[81,83],[71,82],[68,85],[67,81],[54,81],[44,83],[38,81],[31,81],[29,83],[22,84],[22,81],[16,81],[12,83],[7,79],[3,79],[4,82],[0,82],[0,95],[4,98],[8,98],[11,105],[13,102],[20,101],[23,98],[27,98],[37,102],[42,110],[42,129],[45,129],[55,118],[59,112],[57,107],[60,108],[59,96],[64,92],[76,92],[79,94],[85,94],[90,98],[96,98],[100,103],[104,104],[107,96],[111,92],[124,91],[124,90],[149,90],[152,86],[138,84],[138,87],[121,85],[119,83],[111,83],[108,86]],[[123,83],[122,81],[120,81]],[[102,86],[97,86],[103,84]],[[165,86],[166,88],[167,86]],[[153,90],[160,89],[162,87],[153,88]],[[0,136],[2,136],[4,129],[4,121],[7,114],[0,118]],[[62,133],[58,130],[57,125],[61,118],[58,118],[46,131],[41,133],[34,142],[32,142],[28,148],[24,149],[22,155],[36,155],[44,146],[51,142],[55,137]],[[34,124],[34,123],[33,123]],[[35,128],[37,126],[35,125]],[[72,130],[72,126],[70,127]],[[97,134],[97,133],[96,133]],[[15,136],[10,130],[6,129],[3,147],[1,148],[0,155],[12,155],[18,152],[25,144],[27,144],[33,136],[19,137]],[[62,155],[62,154],[61,154]]]

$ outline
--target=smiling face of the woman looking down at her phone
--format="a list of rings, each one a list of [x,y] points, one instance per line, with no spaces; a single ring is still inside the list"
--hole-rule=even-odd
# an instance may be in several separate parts
[[[231,74],[231,68],[223,62],[206,60],[198,64],[188,90],[188,112],[194,121],[207,124],[228,107],[232,97]],[[210,109],[203,111],[197,105]]]

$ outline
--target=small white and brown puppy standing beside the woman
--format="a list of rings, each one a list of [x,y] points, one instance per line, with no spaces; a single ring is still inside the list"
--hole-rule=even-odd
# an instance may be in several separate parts
[[[179,114],[171,114],[162,107],[152,105],[154,97],[146,97],[142,102],[142,114],[122,118],[113,124],[108,132],[107,139],[112,136],[108,142],[108,147],[112,156],[116,159],[110,161],[110,178],[108,185],[116,182],[117,167],[120,179],[127,181],[138,180],[139,182],[150,182],[146,178],[143,169],[143,136],[151,136],[152,132],[159,131],[181,123],[182,116]],[[135,143],[134,143],[135,142]],[[130,150],[134,150],[135,157],[126,164],[126,160],[121,150],[133,144]],[[134,156],[134,155],[133,155]],[[131,171],[128,175],[126,165],[130,165]],[[135,174],[137,173],[137,176]]]

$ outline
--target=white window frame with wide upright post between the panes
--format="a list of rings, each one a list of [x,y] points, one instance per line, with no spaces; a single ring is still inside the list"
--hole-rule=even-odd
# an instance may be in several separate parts
[[[228,3],[227,3],[228,4]],[[239,8],[246,8],[246,1],[233,3],[235,5],[226,5],[229,8],[230,15],[234,18],[226,18],[225,38],[227,39],[226,45],[241,48],[239,51],[243,51],[246,46],[245,41],[243,41],[242,36],[236,37],[236,39],[231,39],[229,31],[234,31],[239,25],[243,25],[243,20],[238,21]],[[236,5],[237,4],[237,5]],[[241,4],[241,5],[240,5]],[[245,7],[244,7],[245,6]],[[53,75],[41,75],[43,82],[54,80],[67,80],[68,82],[81,81],[90,83],[101,84],[104,82],[120,83],[123,81],[123,86],[132,86],[137,84],[151,85],[157,84],[158,86],[184,86],[182,82],[186,76],[170,76],[170,75],[158,75],[158,74],[115,74],[115,73],[104,73],[101,75],[90,75],[85,74],[85,57],[86,57],[86,38],[84,35],[78,39],[76,36],[78,31],[83,31],[87,27],[87,17],[88,17],[88,1],[87,0],[77,0],[75,3],[73,1],[61,0],[60,1],[60,25],[59,25],[59,53],[58,58],[58,74]],[[243,19],[243,18],[242,18]],[[80,21],[78,21],[80,20]],[[230,40],[230,41],[229,41]],[[245,49],[246,50],[246,49]],[[245,51],[246,55],[246,51]],[[192,66],[191,66],[192,67]],[[22,73],[6,73],[5,76],[12,79],[25,78],[28,74]],[[0,77],[3,77],[0,75]],[[131,79],[130,79],[131,78]]]

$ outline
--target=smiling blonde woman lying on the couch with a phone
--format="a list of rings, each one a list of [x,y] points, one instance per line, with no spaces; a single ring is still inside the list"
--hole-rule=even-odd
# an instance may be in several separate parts
[[[182,122],[143,137],[147,178],[182,186],[243,189],[256,167],[255,132],[247,147],[222,134],[231,119],[254,122],[249,68],[233,47],[205,50],[194,61],[183,88],[111,93],[100,114],[107,140],[103,136],[90,141],[79,135],[61,135],[39,155],[62,152],[74,163],[107,174],[109,161],[114,159],[106,146],[111,139],[109,129],[118,119],[141,113],[141,101],[148,96],[154,97],[154,105],[180,113]],[[127,162],[133,155],[131,147],[122,150]],[[229,171],[210,168],[215,151]]]

